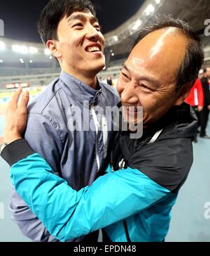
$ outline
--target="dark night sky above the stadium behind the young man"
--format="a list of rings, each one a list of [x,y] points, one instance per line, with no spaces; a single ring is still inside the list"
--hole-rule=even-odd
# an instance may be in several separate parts
[[[102,32],[109,32],[130,18],[144,0],[94,0]],[[48,0],[1,0],[0,19],[4,21],[5,37],[40,42],[36,23]],[[132,3],[132,4],[131,4]]]

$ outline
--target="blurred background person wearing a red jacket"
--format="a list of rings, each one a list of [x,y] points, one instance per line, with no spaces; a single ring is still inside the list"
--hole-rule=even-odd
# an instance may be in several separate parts
[[[195,113],[197,115],[197,120],[198,120],[197,128],[199,128],[200,113],[204,108],[204,92],[203,92],[202,83],[200,82],[200,79],[196,80],[185,102],[191,105],[195,110]],[[197,142],[197,134],[195,136],[194,141]]]

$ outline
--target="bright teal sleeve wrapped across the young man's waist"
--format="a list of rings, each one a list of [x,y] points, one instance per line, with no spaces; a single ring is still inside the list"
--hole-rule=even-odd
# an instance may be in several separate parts
[[[32,212],[59,241],[135,215],[170,193],[131,168],[109,172],[91,186],[75,191],[36,153],[13,165],[10,179]]]

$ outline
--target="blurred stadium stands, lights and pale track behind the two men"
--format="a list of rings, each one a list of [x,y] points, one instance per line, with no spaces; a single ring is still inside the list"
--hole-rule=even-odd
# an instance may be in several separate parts
[[[210,65],[210,29],[208,36],[204,34],[205,29],[207,31],[205,20],[210,19],[209,0],[146,0],[125,23],[105,34],[106,69],[99,73],[99,79],[106,81],[107,77],[112,76],[116,85],[120,69],[137,39],[139,29],[157,13],[170,13],[190,23],[203,39],[204,68]],[[6,106],[13,91],[20,86],[26,87],[32,100],[59,76],[59,72],[57,61],[43,44],[0,37],[0,141]],[[210,134],[210,127],[208,129]],[[174,207],[167,241],[210,241],[210,219],[204,218],[204,204],[210,201],[210,143],[203,140],[194,147],[195,163]],[[10,219],[9,167],[2,159],[0,169],[0,241],[29,241]]]

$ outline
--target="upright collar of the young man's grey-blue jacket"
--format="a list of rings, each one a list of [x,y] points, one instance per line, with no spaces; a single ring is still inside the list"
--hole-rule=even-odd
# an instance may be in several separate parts
[[[100,94],[102,87],[99,84],[99,90],[94,90],[87,84],[81,82],[76,77],[73,77],[66,72],[61,72],[59,78],[62,80],[62,89],[65,93],[73,98],[73,100],[83,103],[88,101],[89,105],[94,105]],[[99,83],[99,82],[98,82]]]

